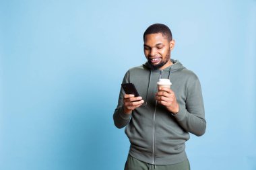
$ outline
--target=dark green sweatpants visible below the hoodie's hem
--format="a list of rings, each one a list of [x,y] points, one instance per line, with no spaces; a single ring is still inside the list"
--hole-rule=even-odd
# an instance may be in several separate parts
[[[190,170],[189,160],[172,165],[152,165],[139,161],[128,155],[125,170]]]

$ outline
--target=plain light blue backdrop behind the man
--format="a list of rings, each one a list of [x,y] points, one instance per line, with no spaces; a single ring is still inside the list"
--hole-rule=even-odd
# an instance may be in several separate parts
[[[191,169],[256,169],[256,1],[1,1],[0,19],[0,169],[123,169],[113,111],[154,23],[201,81]]]

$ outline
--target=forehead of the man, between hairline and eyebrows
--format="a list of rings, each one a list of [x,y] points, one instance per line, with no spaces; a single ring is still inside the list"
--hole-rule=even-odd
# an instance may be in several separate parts
[[[159,44],[159,43],[168,43],[168,38],[163,36],[162,33],[156,34],[147,34],[145,36],[144,44]]]

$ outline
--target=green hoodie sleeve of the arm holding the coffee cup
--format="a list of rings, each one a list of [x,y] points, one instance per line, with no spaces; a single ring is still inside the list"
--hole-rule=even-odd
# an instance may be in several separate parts
[[[206,121],[203,106],[203,96],[199,79],[187,81],[187,98],[185,105],[180,105],[179,112],[174,115],[179,124],[196,136],[205,133]]]

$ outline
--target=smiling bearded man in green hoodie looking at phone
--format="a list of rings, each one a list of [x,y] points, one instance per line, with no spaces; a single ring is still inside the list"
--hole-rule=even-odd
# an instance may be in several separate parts
[[[199,79],[170,58],[175,41],[167,26],[153,24],[143,40],[148,62],[129,69],[123,79],[140,96],[121,89],[113,115],[131,142],[125,169],[190,169],[185,142],[189,133],[203,135],[206,126]],[[170,79],[171,89],[158,88],[158,79]]]

